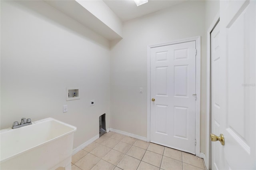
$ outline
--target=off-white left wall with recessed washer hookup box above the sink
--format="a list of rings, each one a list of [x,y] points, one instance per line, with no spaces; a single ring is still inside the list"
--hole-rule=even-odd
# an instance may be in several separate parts
[[[1,129],[53,117],[77,127],[76,148],[99,133],[103,113],[108,128],[109,42],[45,2],[1,1],[0,73]],[[66,101],[76,86],[81,99]]]

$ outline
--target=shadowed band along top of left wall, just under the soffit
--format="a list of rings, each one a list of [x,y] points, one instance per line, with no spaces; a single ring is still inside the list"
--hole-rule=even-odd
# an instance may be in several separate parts
[[[12,1],[12,4],[15,6],[22,6],[26,8],[26,10],[33,12],[35,16],[40,16],[41,18],[45,18],[49,22],[62,26],[64,29],[70,30],[90,42],[98,44],[104,48],[110,48],[109,41],[106,38],[86,28],[76,20],[70,18],[66,14],[48,5],[46,2]]]

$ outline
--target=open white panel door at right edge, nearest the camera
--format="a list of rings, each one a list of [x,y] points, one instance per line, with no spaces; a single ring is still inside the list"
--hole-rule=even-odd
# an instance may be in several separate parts
[[[212,145],[212,169],[255,170],[256,1],[220,1],[219,44],[220,57],[212,58],[212,130],[224,134],[225,144]]]

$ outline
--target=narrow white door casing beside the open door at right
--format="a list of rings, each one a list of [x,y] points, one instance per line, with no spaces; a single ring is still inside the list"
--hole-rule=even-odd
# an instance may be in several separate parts
[[[205,153],[205,166],[207,169],[212,168],[212,152],[210,148],[210,132],[212,128],[210,123],[212,121],[211,114],[211,32],[220,20],[220,11],[216,14],[210,27],[207,30],[207,75],[206,75],[206,153]]]

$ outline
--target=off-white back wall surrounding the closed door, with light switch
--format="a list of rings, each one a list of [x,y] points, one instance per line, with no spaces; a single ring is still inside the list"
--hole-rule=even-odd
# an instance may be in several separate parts
[[[111,42],[110,127],[147,136],[147,45],[202,36],[201,152],[205,152],[205,2],[188,1],[123,23],[123,39]],[[139,93],[143,87],[143,93]]]

